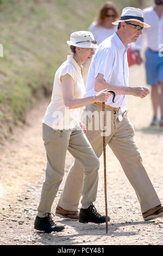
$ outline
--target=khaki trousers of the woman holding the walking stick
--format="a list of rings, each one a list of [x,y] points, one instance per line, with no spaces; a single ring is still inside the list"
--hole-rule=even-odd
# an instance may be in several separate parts
[[[79,126],[74,130],[53,130],[48,125],[42,124],[42,136],[47,154],[47,167],[37,215],[45,217],[45,214],[51,211],[64,175],[67,150],[84,168],[84,172],[82,168],[83,198],[81,203],[82,208],[88,208],[96,200],[99,159],[84,132]],[[69,190],[71,191],[71,187]]]

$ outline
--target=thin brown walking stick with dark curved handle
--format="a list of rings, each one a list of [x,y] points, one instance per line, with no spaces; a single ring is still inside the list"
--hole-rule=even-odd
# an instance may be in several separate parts
[[[112,102],[115,99],[115,92],[112,90],[107,91],[113,95]],[[107,202],[107,189],[106,189],[106,145],[105,145],[105,127],[106,127],[106,116],[105,116],[105,102],[102,103],[103,106],[103,154],[104,154],[104,193],[105,193],[105,221],[106,221],[106,234],[108,233],[108,202]]]

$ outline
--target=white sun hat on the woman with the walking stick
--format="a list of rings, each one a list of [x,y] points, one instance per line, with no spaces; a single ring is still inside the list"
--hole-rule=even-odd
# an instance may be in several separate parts
[[[67,41],[67,45],[81,48],[98,48],[97,41],[89,31],[73,32],[70,35],[70,41]]]

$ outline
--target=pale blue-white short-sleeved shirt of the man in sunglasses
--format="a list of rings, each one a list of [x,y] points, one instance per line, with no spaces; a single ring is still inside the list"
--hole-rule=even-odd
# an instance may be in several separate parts
[[[86,96],[92,96],[95,92],[95,78],[98,73],[104,75],[104,80],[115,86],[128,86],[129,70],[127,50],[116,33],[105,39],[97,48],[87,76]],[[112,96],[108,98],[106,105],[123,107],[127,103],[127,95],[116,95],[115,103]]]

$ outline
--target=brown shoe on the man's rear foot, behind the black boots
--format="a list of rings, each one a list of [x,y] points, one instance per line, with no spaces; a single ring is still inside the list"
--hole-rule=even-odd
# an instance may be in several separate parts
[[[60,218],[67,218],[68,220],[79,220],[79,211],[68,211],[61,208],[59,205],[55,210],[55,215]]]

